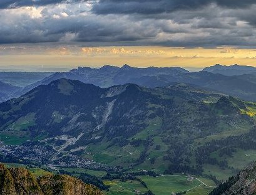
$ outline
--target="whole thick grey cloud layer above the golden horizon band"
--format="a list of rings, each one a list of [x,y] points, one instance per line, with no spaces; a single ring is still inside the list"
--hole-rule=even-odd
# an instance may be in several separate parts
[[[0,44],[256,45],[255,0],[1,0]]]

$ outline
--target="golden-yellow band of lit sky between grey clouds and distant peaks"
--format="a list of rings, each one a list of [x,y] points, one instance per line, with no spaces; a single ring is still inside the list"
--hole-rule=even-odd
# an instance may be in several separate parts
[[[232,47],[0,47],[0,65],[66,65],[100,67],[206,67],[214,64],[256,66],[255,49]]]

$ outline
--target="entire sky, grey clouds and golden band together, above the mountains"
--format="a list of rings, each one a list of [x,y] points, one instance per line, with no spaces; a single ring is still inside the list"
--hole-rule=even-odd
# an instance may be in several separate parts
[[[256,66],[255,0],[1,0],[0,69]]]

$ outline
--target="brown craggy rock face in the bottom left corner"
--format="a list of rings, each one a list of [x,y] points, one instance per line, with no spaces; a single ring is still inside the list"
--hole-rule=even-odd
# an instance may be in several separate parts
[[[90,184],[67,175],[36,178],[25,168],[6,168],[0,164],[1,195],[103,195]]]

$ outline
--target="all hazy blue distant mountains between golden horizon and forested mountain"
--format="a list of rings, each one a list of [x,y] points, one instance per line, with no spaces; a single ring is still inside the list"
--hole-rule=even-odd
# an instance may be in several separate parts
[[[50,73],[0,73],[0,81],[7,82],[16,90],[0,93],[0,102],[19,97],[38,85],[47,85],[59,78],[79,80],[99,87],[111,87],[135,83],[143,87],[164,87],[175,83],[188,83],[207,90],[225,93],[243,100],[256,101],[256,68],[241,65],[207,67],[200,72],[188,72],[180,67],[135,68],[129,65],[115,67],[105,65],[100,69],[79,67],[69,72]],[[16,80],[14,78],[17,78]]]

